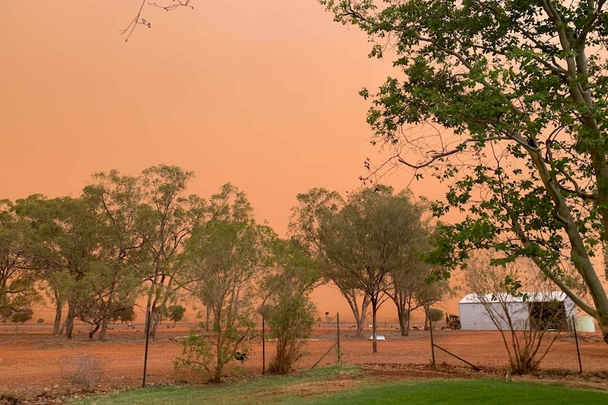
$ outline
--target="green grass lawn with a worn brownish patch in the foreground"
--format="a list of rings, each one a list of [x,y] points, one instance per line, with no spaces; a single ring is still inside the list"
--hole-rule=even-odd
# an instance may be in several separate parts
[[[296,375],[205,387],[150,387],[73,401],[85,404],[216,405],[597,405],[604,392],[505,380],[399,380],[365,378],[360,368],[327,367]]]

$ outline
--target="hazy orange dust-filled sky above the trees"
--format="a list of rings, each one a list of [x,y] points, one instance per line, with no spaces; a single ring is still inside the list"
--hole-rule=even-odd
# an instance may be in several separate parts
[[[94,172],[166,163],[195,171],[202,197],[232,182],[284,235],[299,192],[360,185],[364,159],[380,157],[358,91],[390,61],[368,59],[365,35],[316,0],[193,5],[147,6],[152,28],[125,43],[140,0],[4,2],[0,199],[78,197]]]

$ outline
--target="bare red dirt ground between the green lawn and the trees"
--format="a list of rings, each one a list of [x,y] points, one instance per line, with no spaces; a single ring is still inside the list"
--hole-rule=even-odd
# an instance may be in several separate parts
[[[188,335],[188,325],[159,330],[158,339],[150,342],[147,360],[147,385],[200,384],[204,378],[174,370],[174,359],[181,355],[180,337]],[[370,335],[370,332],[366,332]],[[498,332],[437,330],[435,344],[468,361],[482,371],[475,371],[463,361],[434,350],[435,366],[428,331],[413,330],[401,337],[394,330],[379,330],[378,353],[372,354],[372,342],[355,338],[354,332],[341,330],[341,363],[364,366],[366,373],[381,380],[399,378],[473,378],[480,375],[506,376],[508,358]],[[13,399],[28,403],[61,403],[66,396],[82,392],[108,392],[126,387],[140,387],[145,354],[141,329],[116,325],[104,342],[90,341],[85,327],[67,340],[50,334],[49,328],[37,325],[0,325],[0,404]],[[336,329],[315,328],[308,341],[308,355],[296,370],[338,362]],[[573,335],[562,334],[541,363],[541,370],[531,377],[540,381],[569,383],[608,390],[608,345],[599,333],[579,336],[580,363]],[[265,342],[265,361],[274,354],[274,343]],[[239,374],[262,374],[262,340],[250,341],[250,354],[238,368],[229,368],[232,378]],[[240,370],[239,370],[240,368]],[[530,378],[530,377],[527,377]],[[19,402],[13,403],[19,403]]]

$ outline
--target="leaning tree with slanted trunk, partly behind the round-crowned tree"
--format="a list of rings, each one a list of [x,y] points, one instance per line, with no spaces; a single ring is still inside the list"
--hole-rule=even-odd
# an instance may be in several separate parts
[[[344,206],[345,201],[338,192],[330,192],[324,188],[313,188],[307,193],[298,194],[296,197],[298,205],[291,208],[288,234],[298,239],[306,249],[312,252],[320,263],[322,278],[332,282],[338,287],[342,296],[351,307],[355,322],[357,323],[356,335],[363,336],[367,308],[370,306],[370,297],[362,294],[359,289],[344,283],[339,277],[340,271],[329,266],[327,255],[319,239],[319,225],[323,218],[330,218]]]

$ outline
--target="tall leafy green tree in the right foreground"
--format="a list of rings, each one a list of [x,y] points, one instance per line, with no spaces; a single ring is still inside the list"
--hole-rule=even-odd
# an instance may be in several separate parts
[[[451,182],[439,215],[467,212],[444,228],[434,258],[456,265],[478,248],[503,252],[502,262],[527,256],[608,343],[607,265],[594,260],[608,246],[607,1],[320,3],[399,70],[375,95],[361,92],[373,99],[376,142],[418,177],[429,168]],[[566,262],[590,301],[562,276]]]

